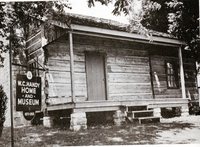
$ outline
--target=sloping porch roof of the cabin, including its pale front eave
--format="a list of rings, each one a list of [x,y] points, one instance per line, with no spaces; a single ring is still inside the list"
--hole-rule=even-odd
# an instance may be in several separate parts
[[[128,24],[119,23],[113,20],[72,13],[55,14],[54,18],[55,19],[53,20],[48,20],[48,22],[52,25],[72,30],[75,34],[86,34],[106,38],[114,37],[114,39],[176,47],[185,45],[183,41],[178,40],[170,34],[150,31],[152,36],[145,36],[138,34],[136,31],[131,32]]]

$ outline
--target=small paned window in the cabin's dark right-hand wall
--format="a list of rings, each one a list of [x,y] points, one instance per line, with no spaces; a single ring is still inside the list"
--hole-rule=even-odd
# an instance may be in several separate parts
[[[167,87],[178,88],[178,67],[174,62],[166,62]]]

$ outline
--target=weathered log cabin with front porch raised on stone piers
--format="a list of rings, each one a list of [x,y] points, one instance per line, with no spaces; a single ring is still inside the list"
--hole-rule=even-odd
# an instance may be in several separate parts
[[[66,14],[63,20],[40,22],[37,32],[29,26],[29,65],[42,77],[44,121],[68,114],[78,130],[87,128],[89,113],[113,112],[120,124],[137,106],[154,117],[169,107],[188,115],[188,99],[197,97],[196,69],[184,42],[130,33],[106,19]]]

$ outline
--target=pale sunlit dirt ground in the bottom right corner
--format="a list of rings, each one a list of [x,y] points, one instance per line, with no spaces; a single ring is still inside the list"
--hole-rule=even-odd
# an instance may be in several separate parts
[[[162,119],[162,123],[188,123],[188,128],[172,128],[157,133],[155,140],[158,144],[200,144],[200,116],[175,117],[170,119]]]

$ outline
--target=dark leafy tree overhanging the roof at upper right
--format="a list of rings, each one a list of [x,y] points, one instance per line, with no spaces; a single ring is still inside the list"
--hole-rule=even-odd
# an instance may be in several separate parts
[[[108,4],[110,0],[88,0]],[[142,3],[140,13],[135,13],[135,2]],[[114,15],[130,16],[132,31],[148,35],[149,30],[169,33],[187,43],[191,57],[200,62],[199,1],[198,0],[115,0]]]

